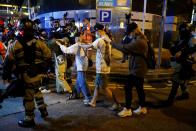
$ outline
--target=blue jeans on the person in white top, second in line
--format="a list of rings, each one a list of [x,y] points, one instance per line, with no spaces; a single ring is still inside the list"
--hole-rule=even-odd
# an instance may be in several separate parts
[[[90,100],[91,95],[88,89],[88,84],[86,81],[86,74],[84,71],[77,72],[77,79],[76,79],[76,91],[79,94],[82,91],[82,94],[85,97],[85,100]]]

